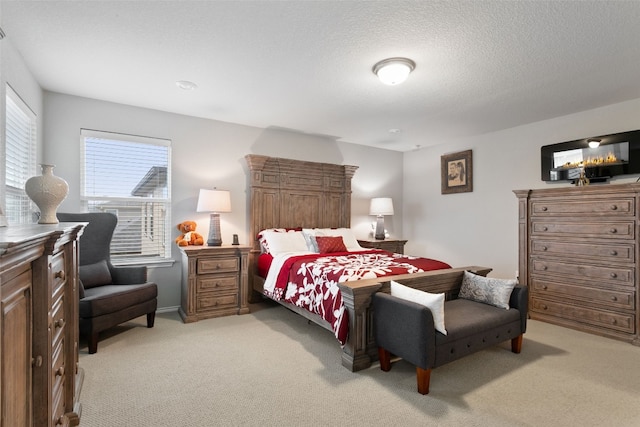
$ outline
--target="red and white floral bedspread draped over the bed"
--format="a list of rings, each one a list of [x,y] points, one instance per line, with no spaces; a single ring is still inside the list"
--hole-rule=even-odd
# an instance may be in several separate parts
[[[429,258],[386,251],[333,254],[276,255],[264,284],[264,294],[284,300],[329,322],[341,345],[347,342],[349,317],[342,304],[338,283],[382,276],[451,268]]]

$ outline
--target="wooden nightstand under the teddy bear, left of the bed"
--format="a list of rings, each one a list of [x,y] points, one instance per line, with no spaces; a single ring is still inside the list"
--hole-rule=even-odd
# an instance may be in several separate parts
[[[249,246],[183,246],[182,302],[185,323],[249,312]]]

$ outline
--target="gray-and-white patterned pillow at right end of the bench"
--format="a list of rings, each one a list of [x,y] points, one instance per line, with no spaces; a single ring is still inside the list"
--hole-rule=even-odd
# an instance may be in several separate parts
[[[511,292],[515,286],[515,279],[490,279],[465,271],[458,298],[495,305],[508,310]]]

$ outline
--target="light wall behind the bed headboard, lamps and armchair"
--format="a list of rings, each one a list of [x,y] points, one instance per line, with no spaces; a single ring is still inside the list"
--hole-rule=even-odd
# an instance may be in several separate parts
[[[85,128],[170,139],[172,223],[194,220],[205,237],[209,217],[195,211],[198,191],[217,187],[231,191],[232,212],[221,215],[223,243],[230,244],[232,235],[238,234],[241,243],[249,244],[247,154],[359,166],[352,181],[352,227],[357,236],[367,237],[373,220],[368,215],[369,199],[378,196],[394,198],[396,215],[387,218],[387,228],[403,234],[402,153],[52,92],[44,94],[44,111],[43,159],[56,165],[55,174],[70,187],[60,211],[81,208],[80,129]],[[172,237],[177,235],[178,230],[172,229]],[[158,283],[161,308],[180,304],[180,257],[174,244],[172,248],[174,266],[149,271],[150,279]]]

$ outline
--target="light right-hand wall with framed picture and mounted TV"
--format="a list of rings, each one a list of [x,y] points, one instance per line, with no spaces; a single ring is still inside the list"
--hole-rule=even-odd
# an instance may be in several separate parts
[[[518,206],[513,190],[570,185],[540,179],[540,147],[640,129],[639,111],[637,99],[405,153],[403,232],[409,239],[407,252],[453,266],[492,267],[493,277],[514,277]],[[473,150],[473,192],[441,194],[440,156],[468,149]]]

